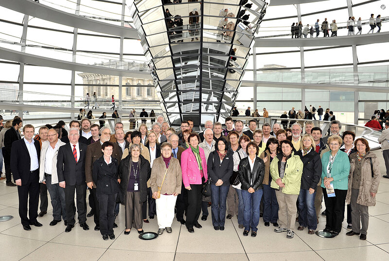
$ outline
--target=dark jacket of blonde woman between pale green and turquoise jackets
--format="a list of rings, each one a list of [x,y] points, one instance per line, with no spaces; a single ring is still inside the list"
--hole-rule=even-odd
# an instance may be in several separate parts
[[[321,177],[320,155],[314,149],[311,149],[305,156],[302,156],[301,150],[296,152],[295,155],[298,155],[302,164],[304,164],[301,175],[301,189],[314,189],[316,191]]]

